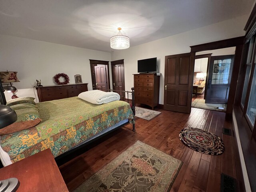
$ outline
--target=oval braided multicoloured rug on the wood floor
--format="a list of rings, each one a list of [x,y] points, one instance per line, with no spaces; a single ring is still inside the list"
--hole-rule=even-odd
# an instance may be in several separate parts
[[[222,139],[211,132],[185,127],[180,131],[179,137],[186,146],[200,153],[220,155],[224,152]]]

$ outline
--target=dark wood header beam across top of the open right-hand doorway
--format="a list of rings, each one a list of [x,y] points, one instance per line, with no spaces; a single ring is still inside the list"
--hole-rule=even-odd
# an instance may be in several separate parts
[[[207,51],[207,50],[214,50],[214,49],[221,49],[221,48],[228,48],[228,47],[235,47],[237,45],[244,44],[244,36],[225,39],[200,45],[190,46],[191,52],[200,52],[200,51]]]

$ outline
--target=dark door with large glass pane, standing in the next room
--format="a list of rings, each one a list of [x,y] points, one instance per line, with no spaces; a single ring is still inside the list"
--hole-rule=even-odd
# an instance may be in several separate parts
[[[205,103],[227,104],[234,55],[212,56]]]

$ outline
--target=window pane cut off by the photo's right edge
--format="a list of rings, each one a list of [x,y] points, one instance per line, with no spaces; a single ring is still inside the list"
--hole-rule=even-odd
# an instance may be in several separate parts
[[[255,117],[256,117],[256,70],[254,70],[252,88],[250,92],[250,98],[248,102],[247,113],[252,126],[254,126]]]

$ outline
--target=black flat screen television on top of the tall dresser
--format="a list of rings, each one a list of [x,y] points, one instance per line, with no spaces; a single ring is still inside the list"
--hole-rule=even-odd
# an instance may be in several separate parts
[[[138,73],[156,72],[156,57],[138,60]]]

